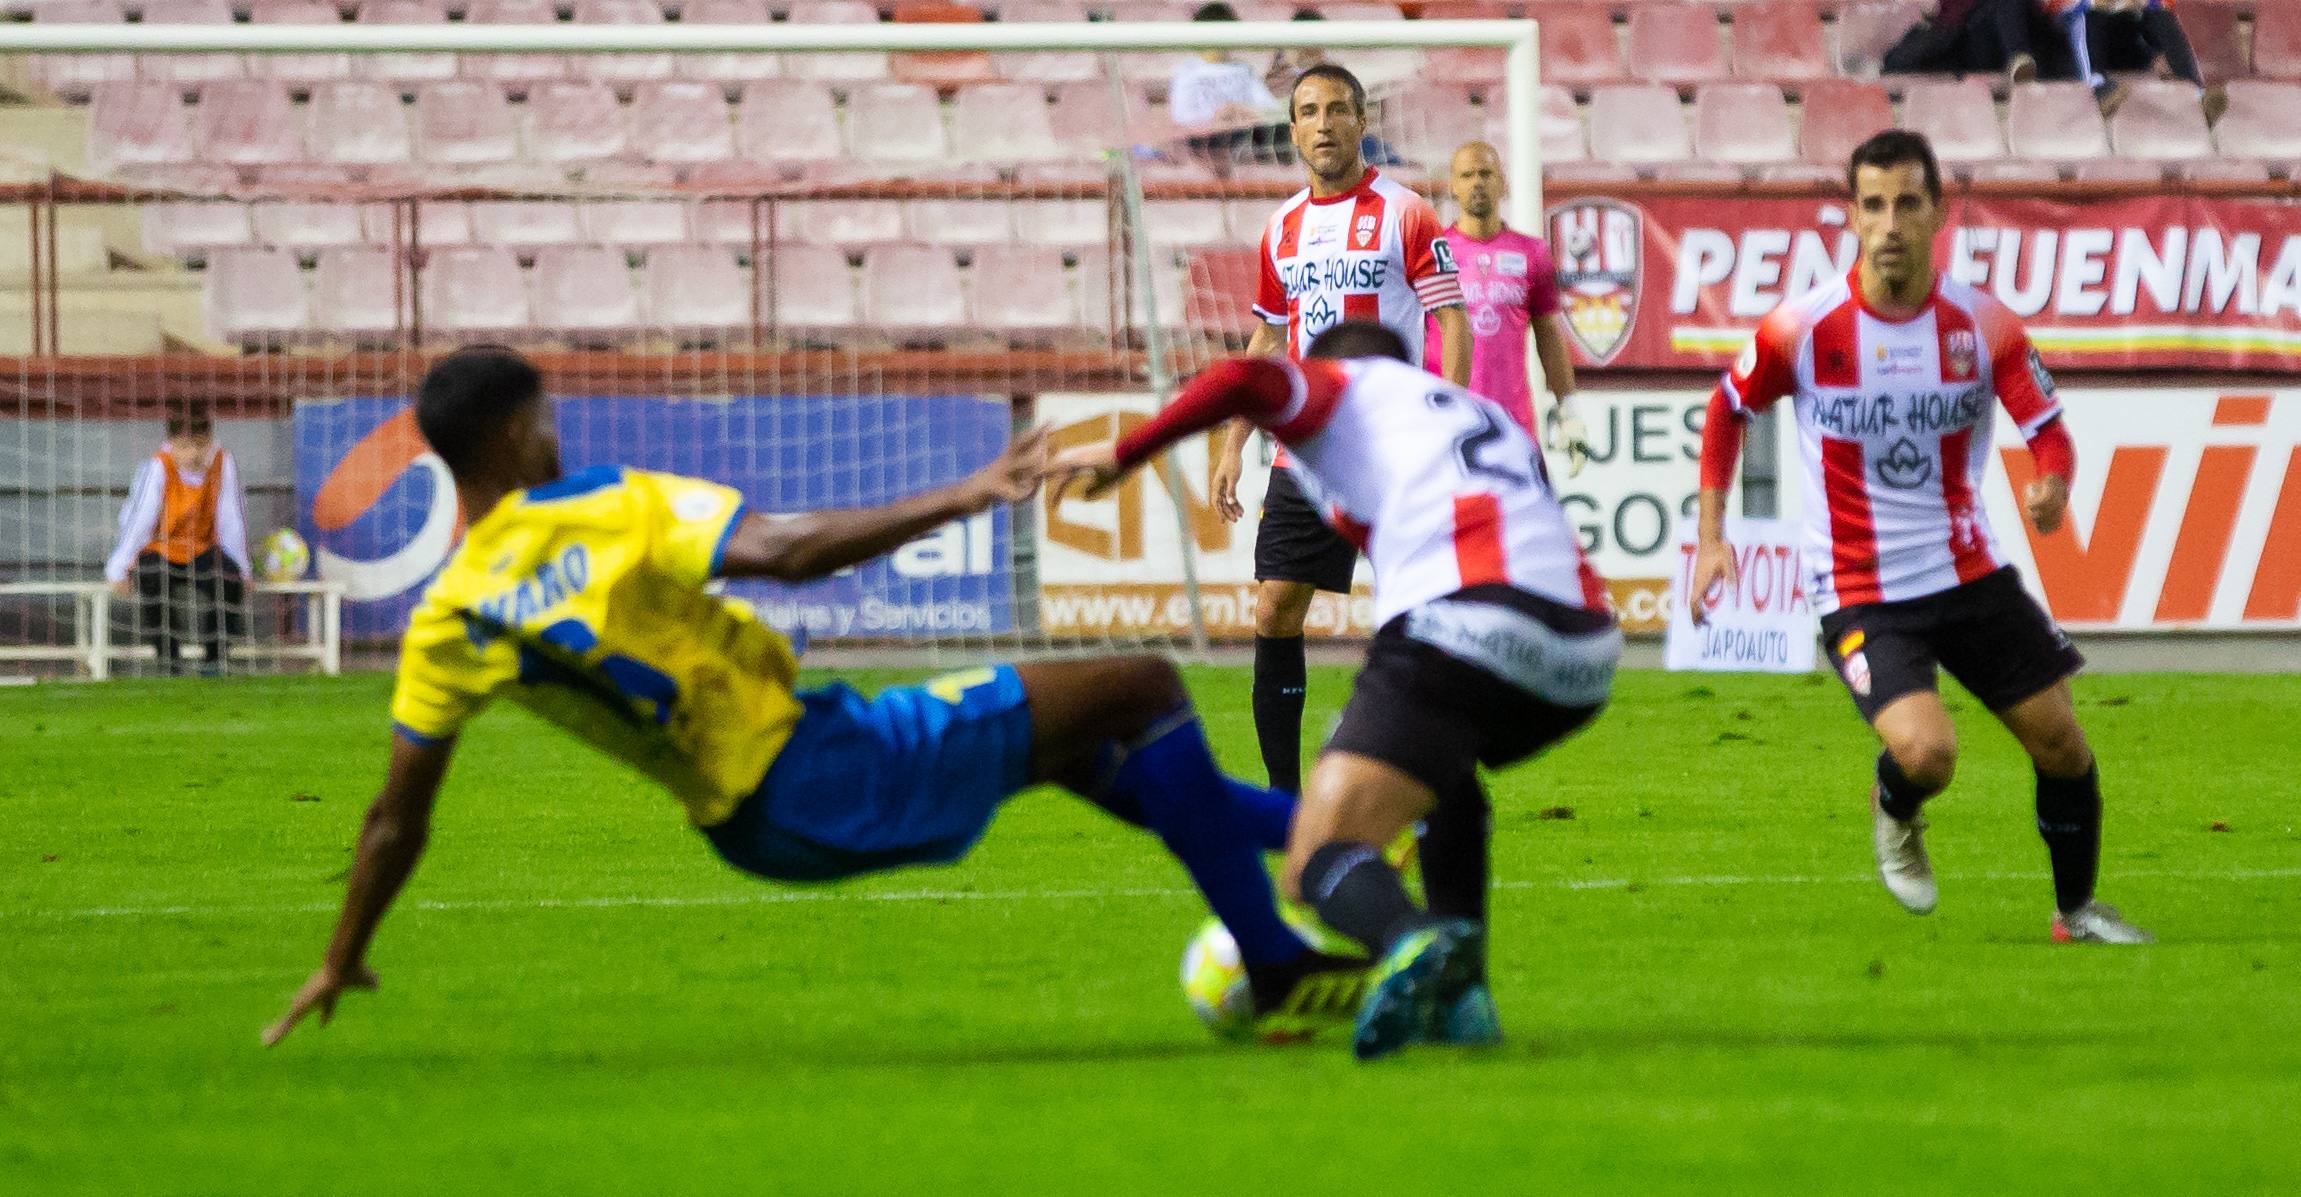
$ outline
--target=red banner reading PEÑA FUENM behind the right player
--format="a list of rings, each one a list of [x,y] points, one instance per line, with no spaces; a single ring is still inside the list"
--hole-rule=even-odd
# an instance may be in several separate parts
[[[2055,368],[2301,373],[2301,205],[1951,198],[1935,267],[1995,295]],[[1585,196],[1546,214],[1588,366],[1712,368],[1774,304],[1852,269],[1841,200]]]

